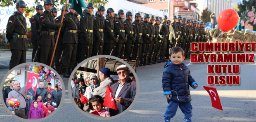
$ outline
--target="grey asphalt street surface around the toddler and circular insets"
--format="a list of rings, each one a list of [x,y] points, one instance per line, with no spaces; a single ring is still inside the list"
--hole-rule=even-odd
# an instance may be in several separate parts
[[[256,60],[256,58],[254,58]],[[185,64],[190,63],[190,60],[183,61]],[[211,63],[190,63],[188,66],[194,80],[200,86],[210,86],[207,84],[207,65]],[[229,63],[214,63],[224,64]],[[203,87],[197,89],[190,88],[192,96],[194,122],[256,122],[256,63],[233,63],[240,66],[240,84],[239,85],[211,85],[217,87],[218,95],[223,107],[222,110],[215,109],[211,106],[211,98]],[[168,105],[162,89],[162,73],[164,63],[158,63],[150,66],[137,67],[137,76],[140,83],[140,92],[135,105],[121,117],[104,120],[107,122],[163,122],[164,112]],[[0,79],[7,73],[8,69],[0,70]],[[228,74],[224,74],[228,75]],[[62,75],[61,75],[62,76]],[[68,78],[63,78],[64,86],[68,87]],[[174,97],[174,96],[173,96]],[[80,113],[71,103],[68,92],[65,93],[64,103],[60,110],[48,121],[94,121],[95,120]],[[17,121],[12,117],[0,104],[0,120],[6,122],[9,120]],[[183,113],[178,108],[176,115],[171,119],[171,122],[182,122]]]

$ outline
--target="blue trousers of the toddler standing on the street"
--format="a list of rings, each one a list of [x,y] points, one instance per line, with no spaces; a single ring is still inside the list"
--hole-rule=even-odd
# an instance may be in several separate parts
[[[164,117],[166,118],[173,118],[174,115],[177,112],[178,106],[180,107],[180,110],[182,111],[182,113],[185,115],[185,119],[188,119],[190,117],[192,117],[193,113],[192,113],[192,105],[190,102],[188,103],[177,103],[177,102],[173,102],[170,101],[169,105],[166,107],[166,111],[164,113]]]

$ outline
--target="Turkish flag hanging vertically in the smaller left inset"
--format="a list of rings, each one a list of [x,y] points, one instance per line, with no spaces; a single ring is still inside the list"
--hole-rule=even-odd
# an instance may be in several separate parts
[[[38,74],[28,72],[26,95],[36,96],[37,84],[38,84]]]

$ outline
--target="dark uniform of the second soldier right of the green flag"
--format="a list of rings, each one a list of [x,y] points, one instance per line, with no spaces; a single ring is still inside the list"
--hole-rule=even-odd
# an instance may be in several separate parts
[[[103,34],[103,30],[105,30],[105,23],[104,23],[104,19],[102,18],[102,16],[100,16],[99,14],[97,16],[94,17],[93,19],[93,45],[92,45],[92,56],[96,56],[98,51],[99,51],[99,47],[100,47],[100,39],[103,38],[102,34]],[[102,42],[103,43],[103,42]],[[102,47],[103,48],[103,47]],[[101,49],[101,51],[103,52],[103,49]],[[99,52],[100,54],[100,52]],[[101,53],[102,54],[102,53]]]

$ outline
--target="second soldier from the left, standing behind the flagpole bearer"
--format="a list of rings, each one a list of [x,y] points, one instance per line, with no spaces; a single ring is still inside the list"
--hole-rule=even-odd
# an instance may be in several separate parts
[[[40,35],[40,22],[39,22],[39,15],[43,13],[43,6],[36,5],[36,14],[32,16],[30,23],[31,23],[31,42],[33,45],[33,52],[32,52],[32,62],[35,58],[36,50],[38,48],[37,40]]]

